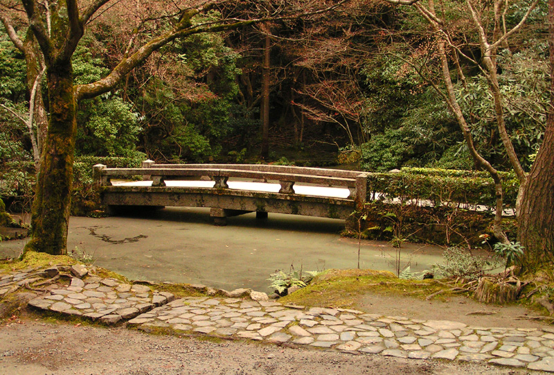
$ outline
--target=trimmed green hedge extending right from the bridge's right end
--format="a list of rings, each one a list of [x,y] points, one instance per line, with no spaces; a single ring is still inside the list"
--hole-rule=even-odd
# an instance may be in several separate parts
[[[514,173],[501,173],[503,203],[515,207],[519,182]],[[376,193],[379,199],[429,200],[435,206],[455,202],[465,208],[476,204],[494,209],[494,182],[484,172],[454,171],[433,168],[402,168],[398,173],[368,175],[368,200]]]

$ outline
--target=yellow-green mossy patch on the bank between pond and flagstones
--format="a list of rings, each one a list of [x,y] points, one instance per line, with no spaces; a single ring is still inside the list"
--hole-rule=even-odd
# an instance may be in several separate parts
[[[279,299],[284,304],[356,308],[359,297],[367,293],[402,294],[425,298],[439,290],[440,297],[451,295],[449,289],[434,279],[398,279],[392,272],[374,270],[328,270],[307,287]]]

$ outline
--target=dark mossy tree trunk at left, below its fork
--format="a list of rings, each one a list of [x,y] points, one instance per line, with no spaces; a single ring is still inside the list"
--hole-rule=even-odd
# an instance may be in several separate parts
[[[50,121],[42,153],[31,218],[33,239],[25,251],[66,254],[77,134],[71,62],[48,68]]]

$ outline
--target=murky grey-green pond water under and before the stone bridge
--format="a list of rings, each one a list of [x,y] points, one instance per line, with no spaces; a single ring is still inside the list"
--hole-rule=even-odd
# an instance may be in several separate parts
[[[356,268],[358,241],[341,238],[343,220],[269,213],[211,224],[209,209],[167,207],[134,217],[70,220],[68,251],[93,257],[93,264],[129,279],[204,284],[233,290],[271,292],[275,270]],[[17,256],[28,240],[0,243],[0,256]],[[431,269],[443,248],[404,243],[401,265]],[[395,249],[387,242],[361,241],[360,268],[395,270]]]

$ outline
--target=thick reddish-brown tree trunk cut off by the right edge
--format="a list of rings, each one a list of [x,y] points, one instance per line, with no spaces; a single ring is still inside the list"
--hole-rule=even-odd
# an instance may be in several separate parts
[[[524,245],[524,270],[554,263],[554,0],[548,0],[551,105],[544,141],[521,198],[517,237]]]

